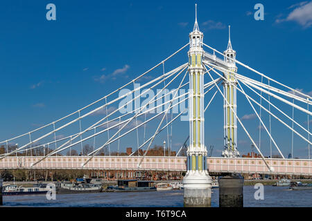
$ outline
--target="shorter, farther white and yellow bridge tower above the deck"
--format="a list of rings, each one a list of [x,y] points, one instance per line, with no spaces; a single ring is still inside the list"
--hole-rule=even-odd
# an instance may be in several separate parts
[[[227,50],[223,52],[225,55],[225,62],[229,67],[228,70],[236,73],[237,67],[236,62],[232,59],[236,58],[236,51],[233,50],[231,44],[231,32],[229,26],[229,42],[227,44]],[[231,59],[230,59],[231,58]],[[228,75],[229,74],[229,75]],[[232,106],[236,113],[236,80],[232,73],[224,73],[223,76],[226,80],[223,81],[223,93],[225,98],[223,104],[224,109],[224,150],[222,152],[223,157],[239,157],[239,151],[237,150],[237,123],[236,117],[231,110]],[[229,103],[227,103],[229,102]],[[230,105],[228,105],[230,104]]]

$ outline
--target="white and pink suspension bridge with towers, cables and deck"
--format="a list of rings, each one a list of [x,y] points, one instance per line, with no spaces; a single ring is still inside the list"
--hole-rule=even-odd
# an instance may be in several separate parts
[[[186,48],[189,48],[185,53],[189,61],[180,61],[180,66],[165,71],[167,62],[177,54],[183,53]],[[246,72],[254,73],[258,77],[247,77],[249,75]],[[150,77],[148,75],[150,73],[156,73],[157,76]],[[139,86],[137,83],[140,83]],[[173,84],[177,88],[172,88]],[[132,85],[134,89],[128,89]],[[187,87],[189,90],[185,92]],[[155,88],[161,89],[157,90],[156,94],[151,93]],[[184,93],[181,93],[182,89]],[[208,97],[212,91],[214,93]],[[261,138],[261,131],[268,135],[270,157],[263,155],[261,142],[256,142],[238,116],[237,108],[240,107],[236,102],[237,91],[246,99],[254,115],[259,119],[259,127],[263,128],[259,130],[259,137]],[[214,116],[206,114],[205,117],[205,112],[211,107],[217,94],[223,99],[224,133],[220,135],[224,140],[223,153],[222,157],[207,157],[205,119]],[[147,96],[149,99],[136,105],[141,97]],[[162,102],[163,99],[165,102]],[[0,155],[0,169],[187,171],[186,180],[187,177],[193,179],[192,176],[207,177],[207,171],[311,175],[309,130],[311,100],[312,98],[302,91],[282,84],[236,59],[230,35],[224,52],[205,44],[196,15],[193,31],[189,34],[189,43],[153,68],[69,115],[33,131],[0,141],[0,146],[4,150]],[[187,108],[173,115],[173,110],[185,102],[188,103]],[[135,108],[128,109],[133,103]],[[157,111],[159,108],[162,111]],[[288,114],[290,108],[292,115]],[[307,125],[300,122],[301,119],[295,119],[294,111],[306,115]],[[173,124],[186,113],[189,128],[186,127],[185,130],[189,131],[189,137],[184,145],[175,155],[172,155],[173,152],[169,152],[168,156],[149,155],[155,137],[162,131],[166,132],[168,150],[172,150]],[[268,124],[265,124],[263,113],[268,116]],[[271,119],[284,126],[284,131],[291,131],[291,158],[286,159],[279,142],[272,134]],[[237,123],[261,157],[241,157]],[[209,133],[209,129],[206,129],[206,133]],[[308,146],[304,159],[293,158],[294,135],[300,137]],[[136,140],[137,152],[120,155],[121,141],[126,137]],[[188,140],[189,145],[186,145]],[[92,144],[93,150],[84,153],[83,142]],[[116,147],[114,150],[116,154],[112,154],[112,145]],[[181,156],[181,150],[185,146],[187,156]],[[141,151],[143,154],[135,155],[139,154],[141,149],[144,150]],[[78,150],[81,154],[72,155],[73,150]],[[272,158],[272,151],[275,150],[279,153],[279,158]],[[67,155],[64,154],[66,152]]]

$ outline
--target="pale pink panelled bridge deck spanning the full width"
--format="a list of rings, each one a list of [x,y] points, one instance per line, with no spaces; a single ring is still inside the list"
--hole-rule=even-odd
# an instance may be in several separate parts
[[[6,157],[0,160],[0,169],[94,169],[94,170],[142,170],[142,171],[187,171],[187,157],[142,157],[98,156],[84,167],[81,164],[88,157],[58,156],[48,157],[31,166],[40,157]],[[265,173],[288,175],[312,175],[312,160],[266,159],[274,171],[271,173],[261,158],[208,157],[207,165],[211,173]]]

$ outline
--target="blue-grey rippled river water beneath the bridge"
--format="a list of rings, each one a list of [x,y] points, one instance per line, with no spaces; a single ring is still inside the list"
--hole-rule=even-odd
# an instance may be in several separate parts
[[[244,186],[244,207],[311,207],[312,190],[292,191],[284,186],[264,186],[264,200],[255,200],[254,186]],[[211,206],[218,207],[218,189],[212,189]],[[183,191],[151,191],[132,193],[57,194],[56,200],[46,195],[5,195],[3,206],[183,206]]]

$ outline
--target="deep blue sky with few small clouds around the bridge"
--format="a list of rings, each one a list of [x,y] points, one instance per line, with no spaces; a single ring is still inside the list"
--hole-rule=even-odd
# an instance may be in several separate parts
[[[46,20],[48,3],[56,6],[56,21]],[[257,1],[1,1],[0,140],[94,102],[187,44],[193,29],[194,3],[198,3],[198,23],[206,44],[223,52],[227,26],[231,25],[232,46],[239,61],[312,94],[311,1],[262,1],[264,21],[254,19]],[[187,50],[166,68],[185,62]],[[240,70],[241,74],[256,76],[242,67]],[[207,147],[215,146],[213,155],[219,156],[223,148],[223,104],[220,95],[217,98],[205,115],[205,140]],[[243,101],[239,104],[240,117],[252,114]],[[284,110],[291,114],[291,108],[285,106]],[[306,126],[306,115],[297,116]],[[259,121],[250,118],[243,123],[258,140]],[[173,126],[174,149],[189,132],[188,123],[183,125]],[[272,130],[286,155],[291,132],[279,125],[275,128]],[[148,130],[153,133],[153,127]],[[162,133],[156,144],[165,137]],[[125,139],[123,149],[137,145],[132,138]],[[241,153],[250,151],[250,144],[239,127]],[[261,146],[268,155],[268,142]],[[307,144],[295,136],[297,156],[304,157],[306,148]]]

